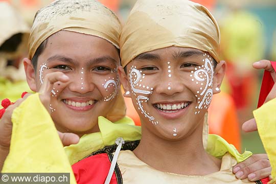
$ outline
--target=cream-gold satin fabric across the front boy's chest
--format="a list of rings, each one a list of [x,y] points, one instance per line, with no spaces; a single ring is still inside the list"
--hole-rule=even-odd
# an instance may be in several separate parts
[[[205,176],[187,176],[158,171],[137,158],[132,151],[121,151],[117,160],[122,173],[123,183],[255,183],[247,178],[240,180],[235,177],[232,167],[237,164],[235,158],[226,153],[222,157],[220,171]],[[131,164],[129,164],[131,163]],[[133,177],[134,176],[134,177]]]

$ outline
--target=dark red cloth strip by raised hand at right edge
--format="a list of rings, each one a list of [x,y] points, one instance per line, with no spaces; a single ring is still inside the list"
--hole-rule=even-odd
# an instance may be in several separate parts
[[[274,68],[274,71],[276,71],[276,62],[270,61],[270,63],[272,65],[272,67]],[[272,89],[273,85],[274,85],[274,81],[270,75],[270,72],[265,71],[264,76],[263,76],[260,96],[259,96],[258,108],[264,104],[265,99],[266,99],[267,95],[269,94],[270,90]]]

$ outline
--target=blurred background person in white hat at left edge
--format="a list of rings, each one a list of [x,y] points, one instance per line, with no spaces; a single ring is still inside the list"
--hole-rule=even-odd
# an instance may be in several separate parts
[[[27,55],[29,27],[6,2],[0,2],[0,100],[20,98],[30,91],[26,82],[22,58]]]

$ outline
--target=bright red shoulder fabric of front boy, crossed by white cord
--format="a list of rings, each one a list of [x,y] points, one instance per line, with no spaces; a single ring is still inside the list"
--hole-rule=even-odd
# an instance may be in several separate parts
[[[90,156],[72,166],[78,184],[103,184],[111,163],[106,153]],[[117,184],[113,172],[110,184]]]

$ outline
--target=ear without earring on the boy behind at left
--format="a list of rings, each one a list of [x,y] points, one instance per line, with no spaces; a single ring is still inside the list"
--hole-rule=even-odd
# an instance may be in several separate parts
[[[32,61],[28,58],[24,58],[23,64],[24,64],[24,68],[25,68],[26,79],[27,79],[30,89],[32,89],[33,91],[37,91],[36,90],[36,82],[35,82],[35,70],[34,70]]]

